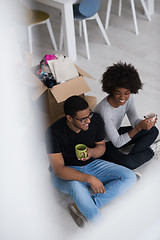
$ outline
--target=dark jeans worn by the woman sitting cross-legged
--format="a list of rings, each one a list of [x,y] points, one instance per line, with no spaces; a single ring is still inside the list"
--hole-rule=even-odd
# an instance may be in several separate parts
[[[129,132],[132,127],[121,127],[118,132],[123,134]],[[120,164],[130,169],[135,169],[141,166],[143,163],[149,161],[154,152],[150,148],[150,145],[155,141],[158,136],[158,129],[154,126],[150,130],[141,130],[138,132],[131,141],[124,146],[134,144],[131,151],[128,154],[122,153],[116,148],[112,142],[106,142],[106,152],[101,157],[110,162]],[[124,147],[123,146],[123,147]]]

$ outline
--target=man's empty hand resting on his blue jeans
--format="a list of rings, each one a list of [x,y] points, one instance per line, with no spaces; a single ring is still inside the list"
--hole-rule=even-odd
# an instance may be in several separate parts
[[[88,183],[90,184],[90,187],[93,189],[94,193],[105,193],[105,187],[98,178],[89,175]]]

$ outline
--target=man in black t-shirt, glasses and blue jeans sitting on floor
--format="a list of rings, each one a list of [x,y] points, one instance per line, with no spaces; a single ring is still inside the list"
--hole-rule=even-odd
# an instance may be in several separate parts
[[[51,179],[59,191],[73,197],[75,203],[69,204],[69,210],[82,227],[100,216],[100,207],[128,190],[136,182],[136,175],[126,167],[100,159],[105,152],[104,123],[84,98],[69,97],[64,112],[65,117],[46,132]],[[75,146],[81,143],[87,146],[87,156],[77,159]]]

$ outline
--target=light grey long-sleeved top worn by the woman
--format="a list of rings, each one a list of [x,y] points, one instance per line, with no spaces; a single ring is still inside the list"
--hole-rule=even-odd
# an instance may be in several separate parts
[[[126,103],[118,108],[112,107],[107,97],[105,97],[94,109],[99,113],[105,123],[105,141],[111,141],[117,148],[122,147],[124,144],[131,140],[128,133],[119,135],[118,129],[120,128],[125,114],[130,121],[132,127],[134,127],[141,119],[138,118],[133,101],[132,94]]]

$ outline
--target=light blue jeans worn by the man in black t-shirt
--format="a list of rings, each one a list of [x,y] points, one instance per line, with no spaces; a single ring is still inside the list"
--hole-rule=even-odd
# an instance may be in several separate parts
[[[136,182],[136,175],[132,170],[101,159],[96,159],[85,166],[70,167],[97,177],[105,186],[105,193],[91,195],[88,183],[63,180],[51,171],[53,185],[59,191],[70,194],[78,209],[89,221],[100,216],[100,207],[125,192]]]

